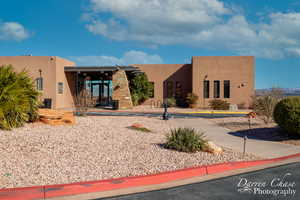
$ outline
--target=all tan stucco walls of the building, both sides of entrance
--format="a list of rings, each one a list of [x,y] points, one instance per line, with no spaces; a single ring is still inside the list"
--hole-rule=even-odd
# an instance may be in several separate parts
[[[75,74],[64,71],[65,66],[75,63],[56,56],[0,56],[0,66],[13,65],[15,70],[27,70],[35,80],[42,70],[43,91],[41,99],[51,98],[52,107],[56,109],[73,108],[73,97],[76,91]],[[196,56],[191,64],[133,64],[145,72],[149,81],[154,83],[154,98],[145,102],[162,103],[167,98],[167,83],[172,82],[174,95],[176,84],[181,85],[181,93],[185,96],[193,92],[199,96],[199,107],[207,107],[213,99],[215,80],[220,81],[220,99],[224,99],[224,80],[230,81],[231,104],[251,103],[254,94],[255,59],[252,56]],[[203,98],[203,81],[210,81],[210,98]],[[63,83],[63,93],[58,93],[58,83]],[[158,105],[158,104],[156,104]]]

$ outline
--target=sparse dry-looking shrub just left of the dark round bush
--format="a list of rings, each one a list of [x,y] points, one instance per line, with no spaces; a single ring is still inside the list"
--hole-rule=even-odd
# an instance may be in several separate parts
[[[253,111],[266,123],[273,120],[273,113],[278,99],[273,96],[260,96],[253,100]]]

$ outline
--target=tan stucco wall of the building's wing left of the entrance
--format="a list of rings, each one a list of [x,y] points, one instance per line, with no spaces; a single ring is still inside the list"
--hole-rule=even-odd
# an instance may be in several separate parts
[[[26,70],[33,80],[43,78],[41,100],[52,99],[53,108],[70,108],[73,98],[64,73],[64,66],[74,65],[73,62],[57,56],[0,56],[0,66],[12,65],[16,71]],[[63,94],[58,94],[58,82],[63,83]]]

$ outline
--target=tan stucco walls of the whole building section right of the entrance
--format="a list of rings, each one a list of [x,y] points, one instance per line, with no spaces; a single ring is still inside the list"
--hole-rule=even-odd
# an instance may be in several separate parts
[[[220,99],[224,99],[224,80],[230,81],[230,98],[226,98],[231,104],[244,104],[248,107],[251,96],[254,95],[255,61],[252,56],[195,56],[192,64],[136,64],[134,65],[145,72],[149,81],[154,82],[155,94],[152,101],[163,102],[166,98],[166,82],[173,82],[173,90],[176,90],[176,82],[182,84],[184,94],[193,92],[199,96],[198,106],[208,107],[213,98],[215,80],[220,81]],[[203,82],[210,81],[210,98],[203,98]]]

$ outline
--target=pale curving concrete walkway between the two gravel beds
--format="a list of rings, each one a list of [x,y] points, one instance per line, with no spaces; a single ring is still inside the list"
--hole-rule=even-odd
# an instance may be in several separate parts
[[[168,123],[181,127],[195,128],[204,132],[207,139],[216,144],[239,152],[243,152],[244,139],[228,134],[229,129],[217,126],[206,119],[171,119]],[[300,146],[280,142],[248,139],[246,152],[261,158],[276,158],[300,153]]]

